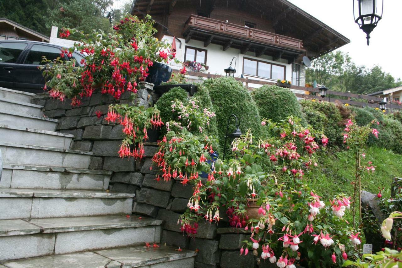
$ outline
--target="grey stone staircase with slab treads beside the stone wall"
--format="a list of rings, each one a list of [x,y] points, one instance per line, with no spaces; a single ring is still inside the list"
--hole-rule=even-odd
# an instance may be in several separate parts
[[[195,252],[152,246],[163,222],[131,215],[134,194],[107,191],[111,171],[88,169],[33,95],[0,88],[0,268],[193,267]]]

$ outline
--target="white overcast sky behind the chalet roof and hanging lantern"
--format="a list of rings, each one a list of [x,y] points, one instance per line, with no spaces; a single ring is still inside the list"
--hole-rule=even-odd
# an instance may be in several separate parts
[[[132,0],[115,0],[115,8]],[[265,1],[265,0],[261,0]],[[378,64],[394,78],[402,79],[402,0],[384,0],[383,19],[371,32],[370,45],[366,44],[363,33],[353,19],[352,0],[289,0],[310,13],[332,29],[345,35],[351,43],[340,47],[349,52],[357,65],[372,67]],[[398,19],[399,18],[399,19]],[[399,21],[399,22],[398,22]]]

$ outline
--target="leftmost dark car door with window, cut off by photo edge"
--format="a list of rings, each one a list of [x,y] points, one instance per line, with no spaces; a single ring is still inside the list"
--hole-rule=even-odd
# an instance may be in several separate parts
[[[0,42],[0,87],[12,89],[18,58],[27,45],[24,42]]]

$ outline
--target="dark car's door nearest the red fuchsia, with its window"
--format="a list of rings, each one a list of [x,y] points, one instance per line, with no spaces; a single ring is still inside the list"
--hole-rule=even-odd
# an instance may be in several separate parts
[[[42,76],[42,71],[39,70],[39,66],[43,65],[42,56],[48,60],[55,60],[60,57],[60,49],[53,45],[33,43],[25,60],[18,64],[15,70],[14,89],[31,93],[43,92],[45,78]]]

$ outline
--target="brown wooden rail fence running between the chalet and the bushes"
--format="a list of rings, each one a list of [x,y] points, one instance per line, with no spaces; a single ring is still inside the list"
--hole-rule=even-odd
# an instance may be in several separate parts
[[[173,70],[173,72],[178,72],[178,70]],[[202,73],[202,72],[187,72],[187,75],[189,76],[198,76],[202,78],[219,78],[223,77],[222,75],[218,74],[210,74],[210,73]],[[267,81],[261,81],[261,80],[255,80],[255,79],[249,79],[247,78],[239,78],[235,77],[234,79],[245,83],[245,86],[250,89],[254,90],[255,88],[249,87],[248,84],[255,84],[255,85],[275,85],[275,82],[267,82]],[[295,89],[298,91],[304,91],[304,94],[301,93],[295,93],[295,95],[299,98],[303,99],[318,99],[322,100],[322,97],[320,96],[320,91],[317,88],[312,88],[312,87],[300,87],[300,86],[291,86],[290,89]],[[316,94],[314,94],[316,93]],[[327,91],[327,97],[324,98],[325,101],[329,101],[329,90]],[[352,100],[358,99],[357,100]],[[348,92],[339,92],[339,91],[331,91],[331,102],[340,102],[343,104],[349,104],[349,105],[354,105],[354,106],[369,106],[373,108],[379,107],[378,102],[381,101],[382,99],[379,97],[372,97],[372,96],[367,96],[367,95],[359,95],[359,94],[353,94],[353,93],[348,93]],[[387,104],[387,108],[390,107],[390,104]],[[392,105],[392,109],[402,109],[402,106],[398,105]]]

